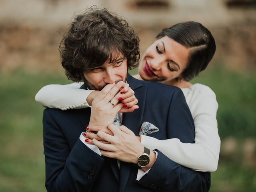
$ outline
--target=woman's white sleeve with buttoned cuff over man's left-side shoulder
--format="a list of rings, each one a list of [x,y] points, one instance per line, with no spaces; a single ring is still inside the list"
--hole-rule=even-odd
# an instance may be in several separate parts
[[[38,91],[35,100],[43,106],[61,110],[90,107],[86,98],[93,90],[80,89],[81,85],[46,85]]]

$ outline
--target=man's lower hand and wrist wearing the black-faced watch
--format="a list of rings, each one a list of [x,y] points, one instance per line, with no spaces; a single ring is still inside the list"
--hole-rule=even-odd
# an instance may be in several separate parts
[[[100,148],[103,156],[137,164],[138,157],[144,152],[144,146],[140,143],[141,137],[135,136],[126,126],[116,127],[110,124],[108,128],[94,126],[88,130],[98,133],[86,132],[86,142]],[[150,151],[149,158],[149,164],[142,168],[144,172],[153,166],[156,154]]]

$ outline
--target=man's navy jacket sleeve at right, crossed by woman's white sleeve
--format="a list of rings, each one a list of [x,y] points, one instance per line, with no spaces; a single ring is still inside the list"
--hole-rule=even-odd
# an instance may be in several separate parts
[[[190,110],[180,89],[176,89],[169,105],[167,137],[183,143],[194,143],[195,130]],[[165,146],[169,150],[172,146]],[[157,159],[139,184],[153,190],[206,192],[210,188],[210,172],[197,172],[170,160],[160,150]]]

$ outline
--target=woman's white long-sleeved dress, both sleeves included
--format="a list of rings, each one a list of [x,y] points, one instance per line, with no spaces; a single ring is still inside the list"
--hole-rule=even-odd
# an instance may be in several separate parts
[[[92,91],[78,89],[81,85],[82,83],[47,85],[39,90],[35,99],[43,106],[62,110],[90,107],[86,98]],[[145,135],[142,135],[141,143],[150,150],[160,150],[182,166],[213,172],[217,169],[220,153],[216,95],[202,84],[182,88],[182,91],[194,119],[195,143],[182,143],[177,138],[158,140]]]

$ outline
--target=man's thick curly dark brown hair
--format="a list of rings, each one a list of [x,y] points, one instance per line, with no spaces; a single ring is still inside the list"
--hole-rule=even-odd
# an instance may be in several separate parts
[[[59,47],[66,76],[75,82],[83,72],[102,66],[108,59],[115,62],[116,53],[127,59],[129,69],[138,66],[139,38],[128,23],[106,9],[90,8],[77,15]]]

